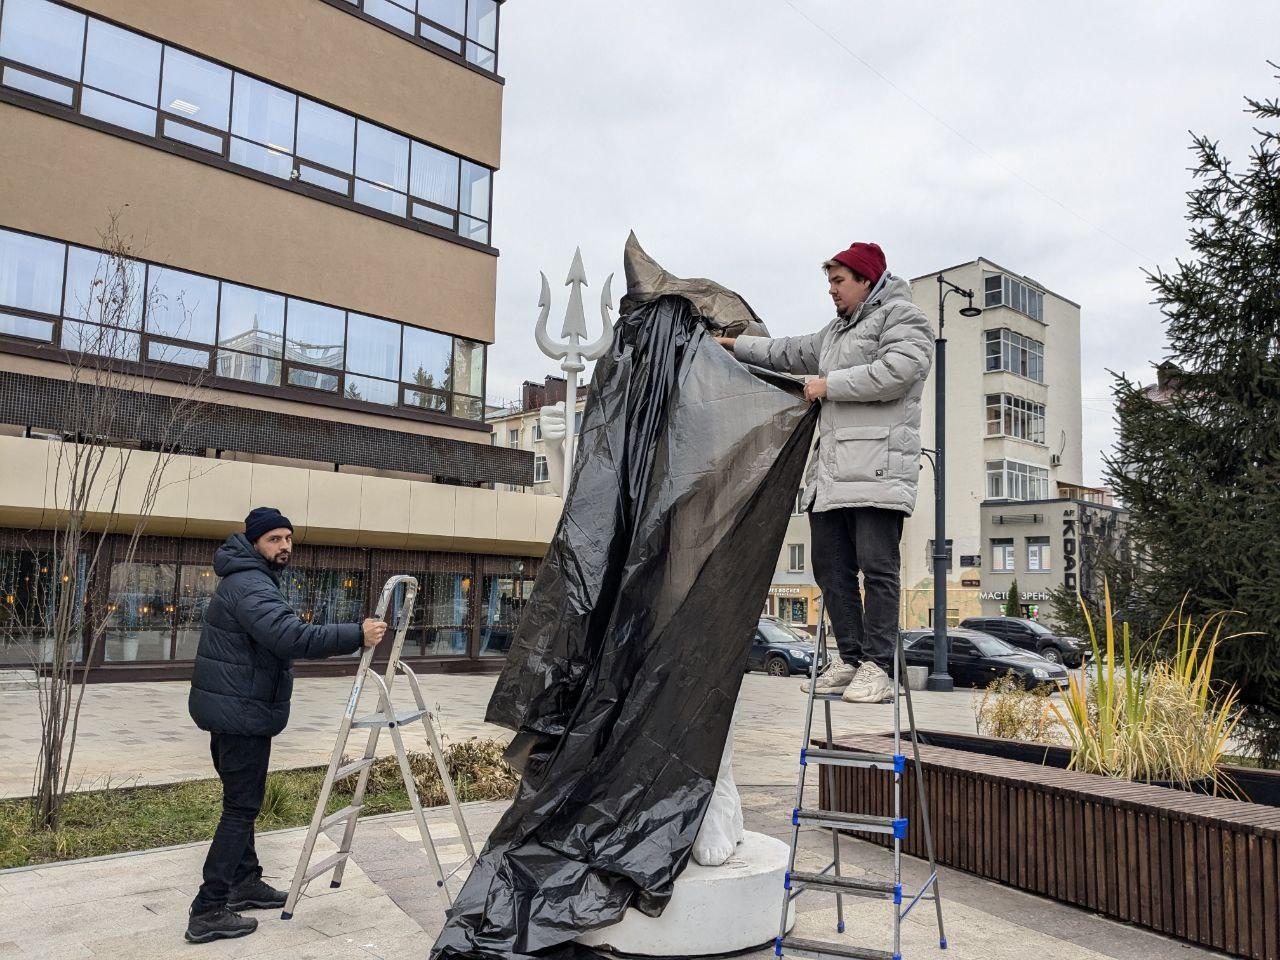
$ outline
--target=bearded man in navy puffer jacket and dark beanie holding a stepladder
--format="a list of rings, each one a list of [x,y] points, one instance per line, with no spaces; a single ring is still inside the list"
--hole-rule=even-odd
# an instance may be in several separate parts
[[[284,906],[284,892],[262,881],[253,820],[262,805],[271,737],[289,721],[293,660],[321,659],[376,646],[381,621],[303,623],[280,593],[280,571],[293,556],[293,525],[274,507],[259,507],[214,556],[221,577],[205,611],[188,709],[209,731],[214,769],[223,781],[223,815],[205,859],[205,882],[191,905],[187,940],[243,937],[257,920],[236,910]]]

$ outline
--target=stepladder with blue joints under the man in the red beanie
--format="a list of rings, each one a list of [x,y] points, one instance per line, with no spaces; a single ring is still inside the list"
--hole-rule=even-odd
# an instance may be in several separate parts
[[[910,684],[900,686],[906,678],[906,659],[902,653],[901,636],[895,643],[893,654],[893,753],[868,754],[833,749],[831,728],[831,704],[841,701],[841,695],[819,694],[817,678],[819,663],[827,659],[827,617],[826,602],[818,612],[818,644],[813,663],[809,667],[809,701],[805,707],[804,739],[800,744],[800,780],[796,787],[796,805],[791,812],[791,859],[787,861],[786,890],[782,896],[782,919],[778,924],[778,937],[774,941],[777,956],[812,957],[812,960],[901,960],[902,920],[922,900],[932,900],[938,915],[938,946],[947,948],[947,936],[942,925],[942,899],[938,893],[938,867],[933,856],[933,835],[929,828],[929,805],[924,791],[924,771],[920,765],[920,745],[915,735],[915,710],[911,705]],[[906,838],[908,822],[902,817],[902,774],[906,771],[906,756],[902,754],[902,722],[900,701],[906,700],[906,716],[910,727],[911,754],[915,768],[916,800],[920,812],[920,826],[924,829],[924,846],[929,860],[929,877],[908,900],[902,891],[902,840]],[[817,700],[823,701],[826,739],[823,746],[810,746],[813,739],[813,709]],[[854,704],[856,708],[858,704]],[[805,773],[810,764],[819,767],[827,778],[827,796],[836,795],[836,767],[861,767],[882,771],[893,777],[893,815],[869,817],[820,808],[805,808]],[[819,873],[796,870],[796,850],[800,844],[800,827],[812,826],[831,831],[832,861]],[[883,833],[893,837],[893,879],[869,881],[845,877],[841,873],[840,836],[850,833]],[[826,942],[787,936],[787,913],[791,901],[809,891],[836,895],[836,932],[845,932],[845,897],[872,897],[893,901],[893,948],[892,951],[870,950],[849,946],[844,942]],[[932,892],[931,892],[932,891]]]

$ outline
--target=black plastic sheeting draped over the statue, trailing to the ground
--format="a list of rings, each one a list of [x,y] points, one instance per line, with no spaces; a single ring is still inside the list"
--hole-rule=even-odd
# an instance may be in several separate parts
[[[817,411],[687,300],[632,307],[489,703],[520,792],[431,957],[598,956],[573,938],[662,913],[712,796]]]

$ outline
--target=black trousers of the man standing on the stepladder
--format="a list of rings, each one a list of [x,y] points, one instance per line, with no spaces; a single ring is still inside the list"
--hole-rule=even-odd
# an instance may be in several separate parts
[[[893,671],[905,518],[900,511],[878,507],[809,513],[813,576],[827,602],[840,655],[852,667],[874,660],[884,672]]]

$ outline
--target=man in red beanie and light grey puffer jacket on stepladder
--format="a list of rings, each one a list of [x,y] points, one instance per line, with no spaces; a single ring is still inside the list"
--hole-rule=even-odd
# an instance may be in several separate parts
[[[822,412],[801,503],[813,531],[814,577],[840,650],[818,690],[842,690],[849,703],[879,703],[892,695],[899,541],[915,507],[920,394],[933,364],[933,330],[876,243],[854,243],[823,269],[837,314],[823,330],[719,342],[745,364],[815,378],[805,384],[805,399],[820,402]]]

